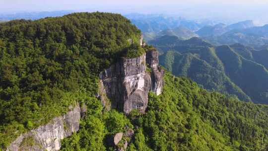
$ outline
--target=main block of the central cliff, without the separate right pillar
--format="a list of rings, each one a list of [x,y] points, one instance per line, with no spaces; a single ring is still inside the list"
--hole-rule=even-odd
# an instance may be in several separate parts
[[[151,77],[146,72],[145,54],[132,59],[122,58],[102,72],[100,79],[106,96],[111,100],[112,108],[127,114],[132,109],[145,112],[148,103],[147,94],[151,86]]]

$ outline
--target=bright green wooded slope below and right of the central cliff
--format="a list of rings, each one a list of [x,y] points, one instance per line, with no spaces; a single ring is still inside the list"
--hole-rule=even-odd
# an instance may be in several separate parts
[[[94,104],[99,107],[87,105],[90,110],[81,130],[64,139],[63,151],[114,151],[113,134],[125,132],[126,127],[134,128],[128,151],[268,149],[268,106],[208,92],[185,77],[167,73],[163,93],[149,94],[145,114],[136,110],[129,116],[114,110],[101,113],[94,109],[101,104]]]

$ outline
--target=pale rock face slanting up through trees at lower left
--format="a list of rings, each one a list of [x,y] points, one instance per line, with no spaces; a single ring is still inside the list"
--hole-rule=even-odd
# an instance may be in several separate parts
[[[79,130],[81,110],[77,104],[66,115],[56,117],[52,122],[20,135],[6,151],[59,151],[61,140]],[[27,140],[30,140],[28,145]]]

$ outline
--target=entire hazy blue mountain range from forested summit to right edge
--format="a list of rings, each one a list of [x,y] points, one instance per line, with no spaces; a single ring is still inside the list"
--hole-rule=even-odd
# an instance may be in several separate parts
[[[184,40],[200,37],[216,46],[241,43],[259,48],[268,44],[268,25],[257,27],[252,20],[227,25],[163,15],[132,14],[126,16],[142,31],[147,41],[169,35]]]

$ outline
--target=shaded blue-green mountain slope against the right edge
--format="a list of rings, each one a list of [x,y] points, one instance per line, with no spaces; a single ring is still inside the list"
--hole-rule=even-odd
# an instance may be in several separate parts
[[[264,66],[239,56],[228,46],[217,47],[216,54],[232,81],[241,87],[254,102],[267,103],[268,71]]]

